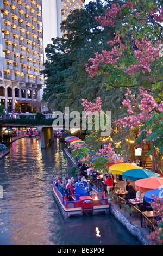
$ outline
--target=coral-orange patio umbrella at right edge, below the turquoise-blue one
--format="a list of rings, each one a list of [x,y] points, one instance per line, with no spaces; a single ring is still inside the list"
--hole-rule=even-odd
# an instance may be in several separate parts
[[[141,192],[147,192],[149,190],[155,190],[163,186],[163,178],[161,177],[149,177],[135,181],[135,188]]]

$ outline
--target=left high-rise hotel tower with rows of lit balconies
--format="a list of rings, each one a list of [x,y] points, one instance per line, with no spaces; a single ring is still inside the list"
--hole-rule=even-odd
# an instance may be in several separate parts
[[[0,104],[28,112],[43,85],[41,0],[0,0]]]

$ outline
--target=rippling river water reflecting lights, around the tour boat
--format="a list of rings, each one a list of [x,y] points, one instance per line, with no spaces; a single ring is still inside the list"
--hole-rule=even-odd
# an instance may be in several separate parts
[[[140,245],[111,214],[61,215],[52,180],[72,166],[64,147],[58,138],[46,149],[39,138],[22,138],[0,160],[0,245]]]

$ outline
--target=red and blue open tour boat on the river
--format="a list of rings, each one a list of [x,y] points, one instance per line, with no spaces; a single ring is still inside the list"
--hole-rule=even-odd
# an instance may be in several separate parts
[[[65,179],[71,178],[67,177]],[[76,179],[74,178],[74,180]],[[59,178],[59,180],[62,182],[62,178]],[[92,191],[88,194],[87,188],[83,183],[75,182],[75,194],[67,198],[66,194],[62,195],[59,192],[57,186],[55,186],[55,179],[53,179],[53,194],[66,218],[84,214],[109,213],[109,203],[105,192],[99,192],[93,186]]]

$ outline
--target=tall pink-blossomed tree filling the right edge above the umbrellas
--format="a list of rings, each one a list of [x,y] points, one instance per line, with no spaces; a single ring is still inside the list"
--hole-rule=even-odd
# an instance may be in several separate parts
[[[108,11],[95,19],[102,27],[115,29],[114,40],[108,41],[109,51],[95,52],[95,58],[86,63],[86,71],[90,77],[105,74],[106,89],[129,89],[120,105],[128,114],[114,121],[123,127],[122,139],[139,127],[136,142],[150,144],[153,170],[162,174],[160,161],[155,161],[162,157],[163,148],[162,2],[112,1]]]

